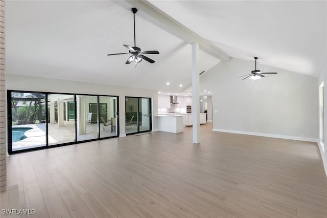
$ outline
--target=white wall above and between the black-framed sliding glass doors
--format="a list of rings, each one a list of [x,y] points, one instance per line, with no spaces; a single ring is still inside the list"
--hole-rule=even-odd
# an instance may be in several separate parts
[[[61,79],[6,74],[6,89],[17,91],[57,92],[119,96],[120,136],[125,131],[125,96],[152,98],[153,115],[157,115],[157,91],[125,86],[105,85]],[[152,116],[152,129],[157,129],[157,119]]]

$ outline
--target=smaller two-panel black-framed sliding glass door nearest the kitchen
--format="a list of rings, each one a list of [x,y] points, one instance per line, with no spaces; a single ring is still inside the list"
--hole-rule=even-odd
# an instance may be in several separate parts
[[[151,131],[151,99],[125,98],[126,134]]]

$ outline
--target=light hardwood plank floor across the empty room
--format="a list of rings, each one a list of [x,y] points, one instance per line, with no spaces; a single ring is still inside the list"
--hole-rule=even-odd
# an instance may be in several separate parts
[[[12,155],[8,186],[31,217],[327,217],[316,143],[211,128]]]

